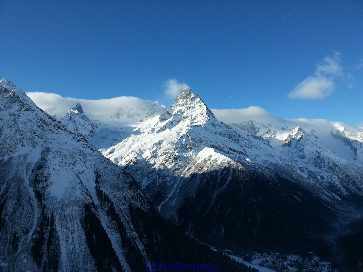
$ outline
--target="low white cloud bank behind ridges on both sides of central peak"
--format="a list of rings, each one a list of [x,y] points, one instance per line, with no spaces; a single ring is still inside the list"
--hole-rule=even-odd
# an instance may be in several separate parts
[[[139,112],[141,115],[150,109],[154,102],[149,100],[140,99],[132,96],[120,96],[109,99],[89,100],[89,99],[76,99],[70,97],[62,97],[61,95],[46,92],[27,92],[30,99],[36,103],[38,107],[46,113],[59,118],[64,116],[66,112],[76,106],[79,102],[85,114],[91,120],[110,120],[110,116],[115,116],[119,108],[131,109],[132,111]],[[170,105],[169,105],[170,106]],[[271,114],[264,108],[257,106],[249,106],[248,108],[239,109],[211,109],[217,120],[224,123],[240,123],[242,121],[254,120],[266,125],[273,126],[287,126],[294,128],[297,125],[303,125],[305,128],[319,127],[322,124],[340,123],[344,127],[351,127],[352,132],[358,128],[356,125],[349,125],[343,122],[331,122],[323,119],[285,119]],[[121,121],[121,120],[120,120]],[[138,119],[135,119],[138,121]],[[363,126],[363,123],[358,124]],[[353,128],[354,127],[354,128]],[[362,129],[358,129],[362,131]]]

